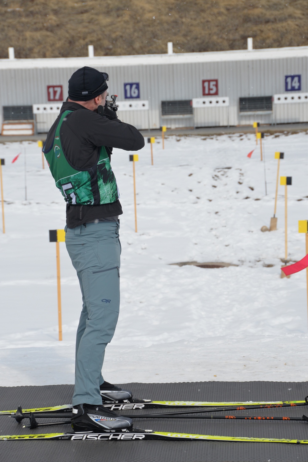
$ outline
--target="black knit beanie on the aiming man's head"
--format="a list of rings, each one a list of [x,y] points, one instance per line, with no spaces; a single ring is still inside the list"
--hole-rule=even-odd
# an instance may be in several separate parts
[[[68,81],[68,97],[73,101],[89,101],[107,90],[108,74],[93,67],[82,67]]]

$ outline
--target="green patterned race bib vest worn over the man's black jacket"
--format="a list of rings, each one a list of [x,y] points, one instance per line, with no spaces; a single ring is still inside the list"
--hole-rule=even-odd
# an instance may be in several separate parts
[[[77,170],[67,159],[61,146],[60,128],[71,112],[65,111],[61,115],[52,148],[48,152],[45,146],[43,148],[56,187],[69,204],[100,205],[117,201],[119,191],[105,146],[100,147],[97,163],[90,169]]]

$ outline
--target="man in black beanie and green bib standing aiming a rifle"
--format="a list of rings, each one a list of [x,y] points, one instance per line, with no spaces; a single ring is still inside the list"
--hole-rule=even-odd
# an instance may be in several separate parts
[[[77,271],[83,309],[76,337],[72,426],[75,431],[131,427],[103,401],[127,400],[129,390],[104,381],[105,348],[119,315],[119,192],[110,166],[112,148],[145,145],[132,125],[106,103],[108,74],[83,67],[68,81],[68,98],[50,128],[43,152],[66,201],[66,249]]]

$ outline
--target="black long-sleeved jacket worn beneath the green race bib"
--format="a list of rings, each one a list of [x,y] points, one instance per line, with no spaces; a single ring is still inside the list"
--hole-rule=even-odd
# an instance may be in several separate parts
[[[60,115],[50,128],[46,138],[46,151],[53,145],[54,133],[61,114],[73,111],[61,127],[61,144],[66,157],[76,169],[91,168],[99,156],[99,147],[105,146],[109,158],[112,148],[117,147],[125,151],[138,151],[145,146],[144,137],[137,128],[119,119],[109,119],[109,116],[100,116],[97,112],[86,109],[78,103],[63,103]],[[111,112],[110,112],[111,114]],[[111,115],[113,116],[113,115]],[[111,204],[95,206],[66,206],[66,225],[69,228],[121,215],[122,207],[117,200]]]

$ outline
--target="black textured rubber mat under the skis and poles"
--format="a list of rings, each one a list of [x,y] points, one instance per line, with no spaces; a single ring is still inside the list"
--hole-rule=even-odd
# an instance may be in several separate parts
[[[308,395],[307,382],[196,382],[125,383],[135,398],[164,401],[290,401]],[[72,385],[0,387],[0,410],[69,404]],[[141,413],[181,410],[147,409]],[[184,409],[185,410],[185,409]],[[224,436],[308,439],[308,423],[251,420],[138,419],[135,427],[164,432],[188,432]],[[233,411],[237,415],[301,417],[308,406],[283,409]],[[232,414],[230,413],[230,414]],[[225,413],[217,413],[217,415]],[[42,421],[42,419],[40,419]],[[23,420],[26,422],[26,419]],[[69,425],[22,428],[10,416],[0,416],[0,434],[70,432]],[[0,441],[1,462],[307,462],[308,444],[212,442],[212,441]]]

